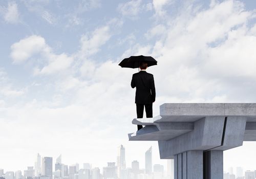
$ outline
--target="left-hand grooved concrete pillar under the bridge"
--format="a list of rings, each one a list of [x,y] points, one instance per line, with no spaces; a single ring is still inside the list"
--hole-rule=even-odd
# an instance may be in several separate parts
[[[191,150],[175,155],[174,179],[203,179],[203,151]]]

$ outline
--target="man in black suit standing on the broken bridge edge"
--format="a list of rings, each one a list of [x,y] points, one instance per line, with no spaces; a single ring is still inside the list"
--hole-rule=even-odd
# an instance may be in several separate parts
[[[146,72],[147,63],[140,62],[140,72],[133,74],[131,86],[136,87],[135,103],[137,109],[137,118],[143,118],[145,106],[146,117],[153,118],[152,104],[156,99],[156,89],[154,77]],[[142,125],[138,125],[138,130]]]

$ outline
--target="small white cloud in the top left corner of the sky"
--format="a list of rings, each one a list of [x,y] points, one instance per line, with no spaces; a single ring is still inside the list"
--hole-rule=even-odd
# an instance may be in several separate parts
[[[16,24],[19,22],[18,6],[15,2],[9,2],[4,19],[7,23]]]

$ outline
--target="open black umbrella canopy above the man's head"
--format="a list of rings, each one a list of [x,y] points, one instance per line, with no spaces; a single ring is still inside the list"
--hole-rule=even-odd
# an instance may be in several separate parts
[[[147,66],[157,65],[157,60],[155,60],[153,57],[143,55],[124,58],[118,65],[120,65],[122,68],[136,69],[139,68],[141,61],[146,62]]]

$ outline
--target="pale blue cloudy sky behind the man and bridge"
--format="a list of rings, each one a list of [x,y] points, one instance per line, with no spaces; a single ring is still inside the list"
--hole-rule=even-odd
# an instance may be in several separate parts
[[[156,102],[255,102],[256,2],[177,0],[20,0],[0,2],[0,168],[24,170],[37,153],[62,161],[144,168],[157,142],[136,131],[138,69],[118,63],[153,56]],[[224,169],[256,169],[256,144],[224,152]]]

